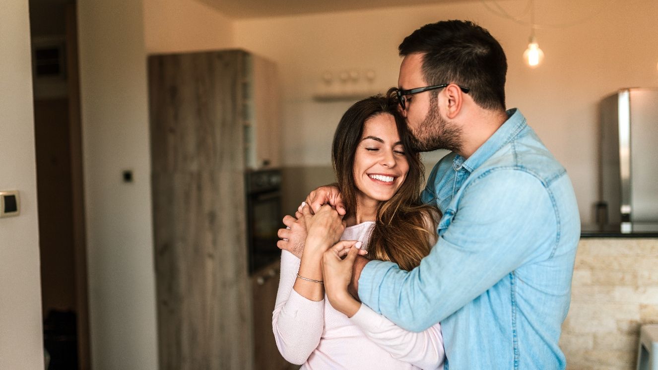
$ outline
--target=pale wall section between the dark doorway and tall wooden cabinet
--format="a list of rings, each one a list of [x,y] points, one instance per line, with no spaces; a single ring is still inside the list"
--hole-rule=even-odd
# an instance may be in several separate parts
[[[143,22],[141,1],[78,3],[94,369],[158,367]]]

